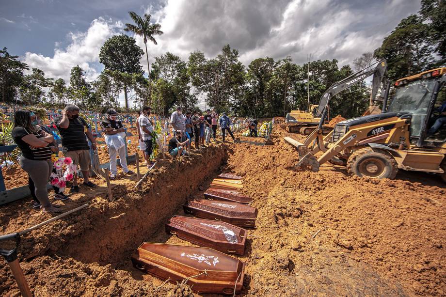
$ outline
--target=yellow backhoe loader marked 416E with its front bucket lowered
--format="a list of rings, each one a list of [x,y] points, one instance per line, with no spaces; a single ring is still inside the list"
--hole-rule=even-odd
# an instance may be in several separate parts
[[[446,182],[446,125],[430,129],[446,116],[439,109],[446,101],[445,84],[446,67],[398,79],[386,108],[387,82],[382,113],[340,122],[326,136],[322,135],[324,111],[318,129],[304,143],[285,138],[298,150],[295,167],[319,171],[321,164],[331,161],[358,176],[394,178],[402,169],[438,173]],[[322,155],[316,158],[318,152]]]

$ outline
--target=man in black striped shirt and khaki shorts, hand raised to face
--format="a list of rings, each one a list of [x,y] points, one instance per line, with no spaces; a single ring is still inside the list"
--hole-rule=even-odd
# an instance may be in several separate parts
[[[62,110],[62,117],[57,117],[54,122],[59,129],[62,146],[66,147],[65,156],[73,160],[73,164],[80,166],[84,178],[83,185],[89,188],[96,187],[90,179],[90,147],[87,137],[92,143],[92,149],[96,150],[96,139],[93,137],[87,122],[79,116],[80,109],[74,104],[67,104]],[[79,192],[77,174],[74,175],[71,187],[72,193]]]

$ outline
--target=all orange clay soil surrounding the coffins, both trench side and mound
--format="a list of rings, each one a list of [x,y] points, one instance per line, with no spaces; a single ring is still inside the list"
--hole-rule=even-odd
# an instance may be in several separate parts
[[[446,295],[446,195],[439,177],[400,172],[395,180],[372,180],[329,164],[295,172],[297,152],[283,137],[302,137],[275,129],[271,146],[229,143],[167,161],[143,191],[133,189],[135,177],[113,181],[112,203],[103,182],[58,202],[64,210],[91,205],[23,238],[19,256],[34,294],[191,296],[187,285],[163,284],[133,268],[129,256],[143,241],[191,245],[166,234],[163,224],[184,215],[181,204],[202,197],[223,171],[243,176],[242,191],[259,210],[238,256],[246,262],[241,295]],[[49,218],[27,208],[29,202],[0,209],[1,234]],[[0,295],[17,292],[0,260]]]

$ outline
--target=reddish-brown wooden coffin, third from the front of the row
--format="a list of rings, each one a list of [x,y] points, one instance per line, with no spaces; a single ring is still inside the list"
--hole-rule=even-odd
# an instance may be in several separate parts
[[[229,201],[196,199],[188,201],[184,212],[198,218],[227,222],[240,227],[254,227],[257,209],[252,206]]]

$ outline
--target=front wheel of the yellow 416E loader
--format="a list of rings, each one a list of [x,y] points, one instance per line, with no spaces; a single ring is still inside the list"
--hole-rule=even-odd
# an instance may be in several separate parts
[[[363,148],[350,155],[347,171],[350,175],[360,177],[394,179],[398,173],[398,164],[386,151]]]

